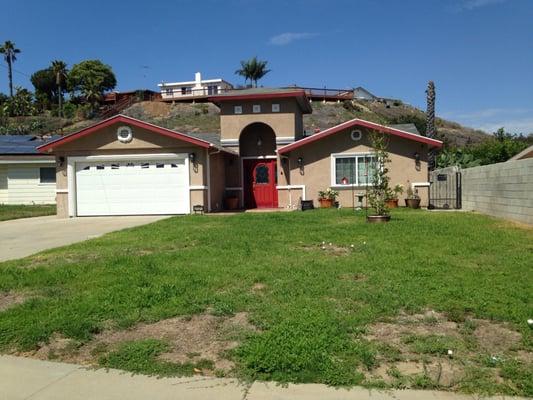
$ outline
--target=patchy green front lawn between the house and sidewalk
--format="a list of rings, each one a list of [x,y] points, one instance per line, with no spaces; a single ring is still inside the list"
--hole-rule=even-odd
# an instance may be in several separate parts
[[[0,350],[59,335],[71,344],[50,358],[140,373],[532,396],[533,230],[470,213],[392,216],[177,217],[1,263],[0,299],[27,299],[0,313]],[[176,345],[162,336],[127,336],[242,313],[256,329],[231,333],[229,371],[192,351],[161,358]],[[84,353],[109,332],[124,340]]]

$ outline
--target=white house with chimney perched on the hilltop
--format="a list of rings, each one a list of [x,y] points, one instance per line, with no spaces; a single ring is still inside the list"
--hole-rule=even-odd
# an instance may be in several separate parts
[[[161,99],[164,101],[207,98],[233,89],[231,83],[220,78],[202,80],[200,72],[194,75],[194,81],[160,83],[157,86],[161,88]]]

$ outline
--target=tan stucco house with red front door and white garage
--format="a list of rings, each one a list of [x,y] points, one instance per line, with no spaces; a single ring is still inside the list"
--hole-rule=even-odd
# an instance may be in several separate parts
[[[58,215],[219,211],[235,195],[243,208],[293,209],[328,187],[352,206],[370,183],[371,131],[389,138],[392,185],[427,185],[428,150],[442,146],[360,119],[304,137],[303,115],[312,108],[303,90],[245,89],[209,101],[220,107],[220,135],[118,115],[40,146],[56,157]]]

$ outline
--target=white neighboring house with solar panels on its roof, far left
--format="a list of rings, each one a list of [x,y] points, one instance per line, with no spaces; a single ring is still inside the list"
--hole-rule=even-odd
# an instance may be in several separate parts
[[[39,154],[38,136],[0,135],[0,204],[53,204],[55,158]]]

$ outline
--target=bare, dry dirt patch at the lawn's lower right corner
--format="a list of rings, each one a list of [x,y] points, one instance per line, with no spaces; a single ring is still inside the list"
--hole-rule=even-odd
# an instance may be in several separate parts
[[[475,318],[454,322],[432,310],[372,324],[363,338],[377,349],[378,366],[370,378],[405,387],[417,387],[421,377],[455,387],[467,366],[483,367],[483,357],[531,362],[531,352],[520,349],[521,334],[508,324]],[[496,383],[501,381],[497,367],[493,375]]]

